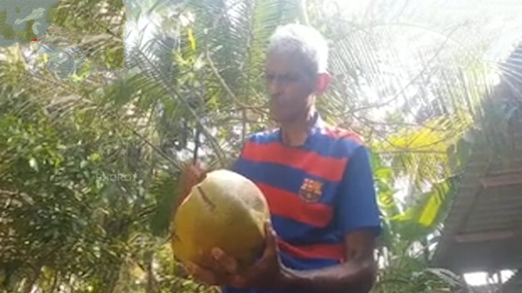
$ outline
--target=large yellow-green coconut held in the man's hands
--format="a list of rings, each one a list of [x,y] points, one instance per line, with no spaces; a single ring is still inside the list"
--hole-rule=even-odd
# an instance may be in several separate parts
[[[269,216],[266,199],[254,182],[229,170],[212,171],[174,215],[174,257],[210,267],[210,250],[219,247],[244,269],[263,252]]]

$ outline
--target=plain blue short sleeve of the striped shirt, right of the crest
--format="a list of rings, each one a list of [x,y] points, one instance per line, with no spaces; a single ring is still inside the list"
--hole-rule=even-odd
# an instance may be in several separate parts
[[[380,234],[381,218],[369,150],[365,146],[358,146],[349,158],[340,191],[336,212],[343,235],[363,228]]]

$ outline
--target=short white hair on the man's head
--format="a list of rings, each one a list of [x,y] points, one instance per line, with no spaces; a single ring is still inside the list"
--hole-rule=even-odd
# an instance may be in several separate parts
[[[270,36],[268,53],[299,54],[311,74],[326,72],[328,44],[323,35],[310,26],[291,23],[276,29]]]

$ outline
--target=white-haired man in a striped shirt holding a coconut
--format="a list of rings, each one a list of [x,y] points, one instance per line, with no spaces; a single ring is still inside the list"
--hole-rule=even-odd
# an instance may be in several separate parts
[[[379,212],[367,149],[315,108],[329,82],[326,42],[310,27],[287,25],[271,36],[267,56],[270,111],[280,127],[252,135],[232,167],[267,198],[266,249],[246,272],[219,248],[213,267],[187,270],[224,293],[366,293]],[[205,173],[189,170],[193,182]]]

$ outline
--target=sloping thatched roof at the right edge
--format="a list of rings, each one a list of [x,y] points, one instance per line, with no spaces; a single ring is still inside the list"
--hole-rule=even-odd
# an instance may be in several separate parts
[[[522,47],[506,62],[495,100],[522,101]],[[522,123],[509,126],[508,150],[473,150],[446,218],[433,265],[457,273],[522,265]],[[507,160],[501,160],[499,157]],[[522,291],[520,291],[522,292]]]

